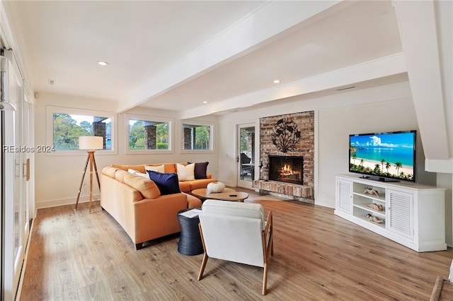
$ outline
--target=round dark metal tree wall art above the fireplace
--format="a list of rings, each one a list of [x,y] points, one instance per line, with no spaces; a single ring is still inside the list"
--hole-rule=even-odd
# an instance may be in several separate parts
[[[292,119],[284,117],[277,121],[273,129],[272,143],[282,152],[295,151],[300,139],[300,131],[297,123]]]

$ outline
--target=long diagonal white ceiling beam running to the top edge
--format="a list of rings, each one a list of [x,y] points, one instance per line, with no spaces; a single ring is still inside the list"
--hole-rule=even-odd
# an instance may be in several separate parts
[[[243,18],[180,61],[132,90],[120,102],[117,112],[141,105],[190,79],[201,76],[231,59],[241,57],[272,42],[279,34],[336,6],[340,9],[352,1],[269,1],[255,13]]]

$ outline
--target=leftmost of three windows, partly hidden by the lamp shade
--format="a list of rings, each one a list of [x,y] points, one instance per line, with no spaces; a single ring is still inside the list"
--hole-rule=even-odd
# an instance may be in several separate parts
[[[79,136],[101,136],[103,151],[113,151],[113,119],[110,112],[47,107],[46,147],[52,146],[55,153],[74,153],[79,151]]]

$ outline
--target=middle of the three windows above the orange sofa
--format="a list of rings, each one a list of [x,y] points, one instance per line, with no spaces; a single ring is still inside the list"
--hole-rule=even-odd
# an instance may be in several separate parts
[[[127,152],[171,151],[171,120],[127,115]]]

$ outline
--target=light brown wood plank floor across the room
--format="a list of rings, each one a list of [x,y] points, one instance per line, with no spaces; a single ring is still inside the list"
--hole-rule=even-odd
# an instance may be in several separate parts
[[[178,235],[136,251],[98,203],[38,210],[20,300],[429,300],[452,249],[417,253],[333,209],[248,191],[273,211],[268,294],[263,268],[178,253]]]

